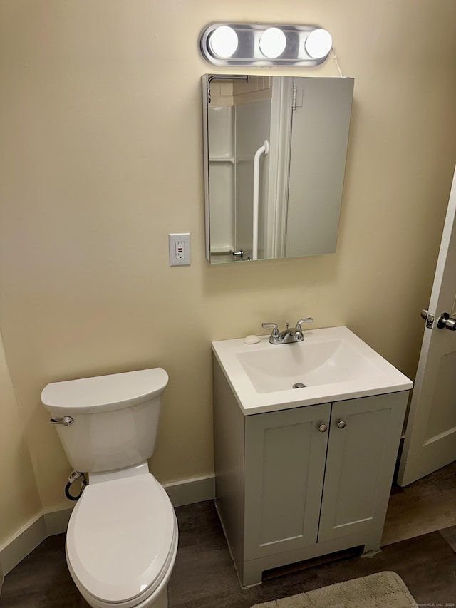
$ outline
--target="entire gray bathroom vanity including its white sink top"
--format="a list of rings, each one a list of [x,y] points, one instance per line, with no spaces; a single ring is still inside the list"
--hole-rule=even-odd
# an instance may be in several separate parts
[[[346,327],[304,335],[212,344],[216,504],[243,587],[380,547],[413,384]]]

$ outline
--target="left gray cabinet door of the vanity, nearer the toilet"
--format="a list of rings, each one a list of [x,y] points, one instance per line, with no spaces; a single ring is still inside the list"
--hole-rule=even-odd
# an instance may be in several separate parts
[[[316,543],[330,412],[246,416],[244,560]]]

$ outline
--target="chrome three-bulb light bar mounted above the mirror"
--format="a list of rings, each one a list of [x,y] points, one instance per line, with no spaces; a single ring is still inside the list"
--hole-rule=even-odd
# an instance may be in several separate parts
[[[201,52],[215,66],[304,66],[326,60],[333,41],[318,26],[210,24]]]

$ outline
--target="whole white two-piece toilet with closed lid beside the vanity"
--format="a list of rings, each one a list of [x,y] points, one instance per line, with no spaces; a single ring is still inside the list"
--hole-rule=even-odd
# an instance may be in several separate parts
[[[143,369],[48,384],[41,393],[68,460],[89,483],[68,523],[66,560],[93,608],[166,608],[174,508],[150,474],[168,382]]]

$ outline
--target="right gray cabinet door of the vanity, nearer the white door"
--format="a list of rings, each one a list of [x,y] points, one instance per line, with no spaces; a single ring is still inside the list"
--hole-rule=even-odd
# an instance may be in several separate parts
[[[318,542],[383,526],[407,396],[333,403]]]

